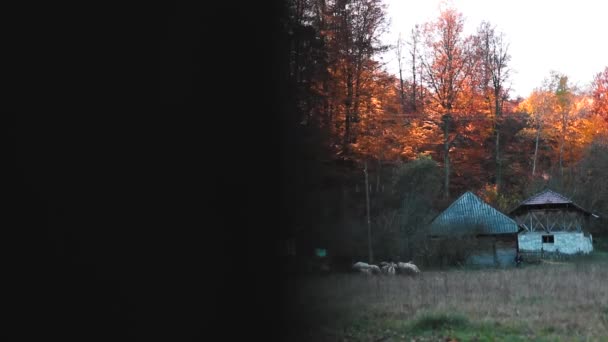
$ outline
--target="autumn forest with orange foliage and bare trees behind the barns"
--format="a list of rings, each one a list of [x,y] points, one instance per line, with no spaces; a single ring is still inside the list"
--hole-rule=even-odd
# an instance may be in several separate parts
[[[601,233],[608,66],[589,88],[552,71],[513,98],[504,34],[484,21],[465,35],[457,9],[390,46],[381,0],[289,0],[281,18],[283,195],[300,202],[281,210],[298,251],[350,262],[367,258],[369,235],[378,258],[411,259],[424,224],[465,191],[505,212],[549,187],[600,215]]]

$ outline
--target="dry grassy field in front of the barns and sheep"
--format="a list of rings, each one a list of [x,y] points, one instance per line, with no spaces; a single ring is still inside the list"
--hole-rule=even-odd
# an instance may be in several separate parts
[[[290,279],[287,341],[608,341],[608,253],[417,278]]]

